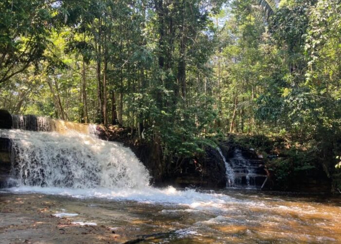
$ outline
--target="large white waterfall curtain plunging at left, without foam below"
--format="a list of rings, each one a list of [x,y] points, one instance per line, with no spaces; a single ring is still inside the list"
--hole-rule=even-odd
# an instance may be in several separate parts
[[[18,186],[126,189],[149,185],[144,165],[119,143],[74,130],[64,134],[0,130],[0,137],[12,142],[11,177]]]

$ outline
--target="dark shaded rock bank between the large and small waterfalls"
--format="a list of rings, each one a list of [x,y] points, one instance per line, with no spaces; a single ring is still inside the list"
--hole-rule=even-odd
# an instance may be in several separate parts
[[[224,162],[215,148],[208,147],[205,155],[199,158],[173,158],[172,162],[162,162],[162,149],[159,143],[137,143],[131,130],[110,126],[97,126],[96,135],[102,140],[117,141],[135,153],[148,169],[156,186],[174,185],[177,187],[225,187]],[[176,166],[177,165],[177,166]],[[168,166],[168,167],[167,167]]]

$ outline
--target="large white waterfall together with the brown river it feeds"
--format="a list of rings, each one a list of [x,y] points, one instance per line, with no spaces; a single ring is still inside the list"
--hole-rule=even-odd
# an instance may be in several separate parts
[[[14,187],[0,193],[3,243],[22,243],[20,236],[36,231],[38,224],[20,224],[30,221],[44,232],[33,243],[61,243],[60,236],[49,237],[65,227],[48,216],[72,226],[104,226],[118,243],[341,243],[337,197],[155,188],[129,148],[90,133],[0,130],[0,137],[11,139],[14,160]],[[77,233],[68,233],[73,237],[62,243],[78,243]]]

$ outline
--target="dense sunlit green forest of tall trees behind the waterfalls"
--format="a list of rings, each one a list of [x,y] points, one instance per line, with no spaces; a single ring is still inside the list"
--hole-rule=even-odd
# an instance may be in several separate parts
[[[336,190],[341,1],[1,0],[0,108],[124,127],[164,162],[263,136],[278,180]]]

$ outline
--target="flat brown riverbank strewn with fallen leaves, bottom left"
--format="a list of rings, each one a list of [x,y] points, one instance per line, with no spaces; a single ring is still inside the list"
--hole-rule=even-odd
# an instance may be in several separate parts
[[[1,243],[122,243],[127,236],[106,226],[74,223],[68,215],[55,214],[58,200],[42,195],[0,194]]]

